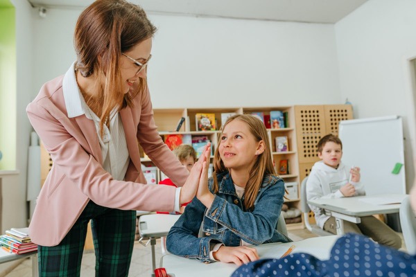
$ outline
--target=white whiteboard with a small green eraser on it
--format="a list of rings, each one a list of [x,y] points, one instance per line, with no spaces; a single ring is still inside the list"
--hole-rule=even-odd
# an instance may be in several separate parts
[[[367,195],[406,193],[403,123],[399,116],[340,121],[343,163],[361,168]],[[403,166],[399,174],[392,170]]]

